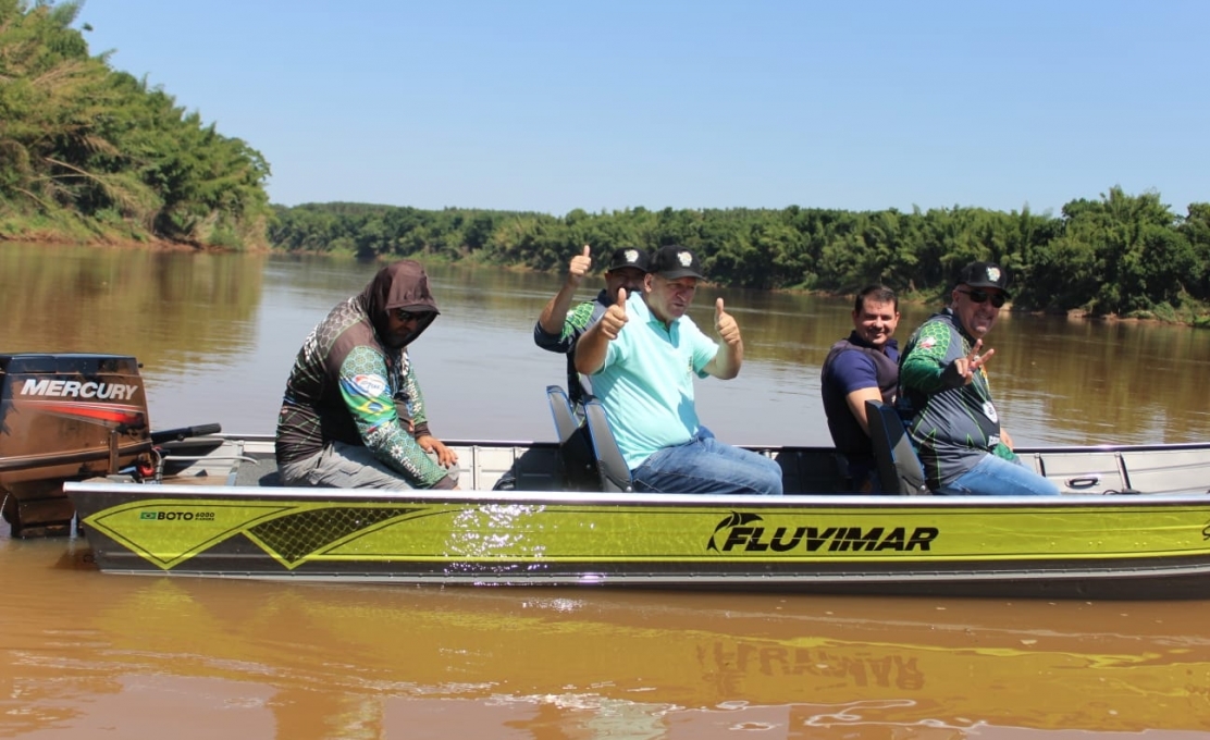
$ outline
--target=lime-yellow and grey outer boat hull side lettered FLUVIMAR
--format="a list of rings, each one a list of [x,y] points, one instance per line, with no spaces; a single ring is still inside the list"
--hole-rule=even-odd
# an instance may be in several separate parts
[[[1210,497],[721,497],[68,484],[108,572],[1210,597]]]

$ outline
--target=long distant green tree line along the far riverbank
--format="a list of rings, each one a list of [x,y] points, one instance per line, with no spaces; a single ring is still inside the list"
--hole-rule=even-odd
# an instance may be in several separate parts
[[[684,244],[713,282],[755,289],[854,293],[883,283],[934,297],[972,260],[1013,276],[1014,307],[1210,324],[1210,203],[1176,214],[1157,192],[1111,187],[1059,215],[985,208],[576,209],[565,216],[364,203],[276,207],[280,249],[415,256],[560,270],[582,244]],[[601,260],[599,260],[600,262]]]

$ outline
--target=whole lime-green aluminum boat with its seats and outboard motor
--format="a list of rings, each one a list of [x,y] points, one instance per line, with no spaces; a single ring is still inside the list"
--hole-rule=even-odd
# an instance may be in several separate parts
[[[17,537],[82,532],[111,573],[405,584],[1210,597],[1210,443],[1018,450],[1056,497],[929,496],[871,404],[888,495],[829,447],[749,447],[785,496],[630,491],[599,401],[547,389],[554,441],[446,443],[460,491],[278,485],[273,440],[151,432],[134,358],[0,354]]]

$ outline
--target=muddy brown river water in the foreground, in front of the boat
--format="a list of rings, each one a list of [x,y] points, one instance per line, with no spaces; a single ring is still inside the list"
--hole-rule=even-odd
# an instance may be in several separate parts
[[[64,547],[0,540],[4,735],[1210,733],[1195,605],[139,578]]]

